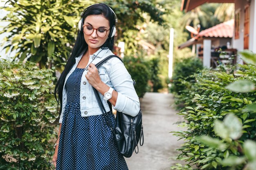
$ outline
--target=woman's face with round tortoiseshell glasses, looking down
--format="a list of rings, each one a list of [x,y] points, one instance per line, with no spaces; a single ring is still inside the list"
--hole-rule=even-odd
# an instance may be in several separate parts
[[[92,49],[99,49],[106,42],[110,32],[108,31],[109,29],[109,22],[103,15],[87,16],[83,24],[83,36],[88,47]],[[91,32],[91,35],[87,35]],[[103,37],[105,33],[106,36]]]

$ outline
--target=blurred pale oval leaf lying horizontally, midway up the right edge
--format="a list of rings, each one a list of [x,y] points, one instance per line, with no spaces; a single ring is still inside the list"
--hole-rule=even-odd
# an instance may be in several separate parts
[[[227,85],[226,88],[239,93],[252,92],[256,89],[255,84],[249,80],[238,80],[234,83]]]

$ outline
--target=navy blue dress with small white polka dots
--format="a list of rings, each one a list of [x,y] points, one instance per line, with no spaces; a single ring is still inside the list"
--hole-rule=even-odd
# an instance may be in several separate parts
[[[61,124],[56,170],[128,170],[103,115],[81,117],[80,83],[83,68],[68,77],[67,104]],[[115,116],[109,112],[112,124]]]

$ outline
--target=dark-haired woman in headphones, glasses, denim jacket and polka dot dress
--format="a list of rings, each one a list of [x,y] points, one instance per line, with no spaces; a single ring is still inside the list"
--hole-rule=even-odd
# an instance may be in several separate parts
[[[72,54],[55,88],[61,103],[56,170],[128,170],[92,90],[93,86],[101,93],[113,126],[115,117],[107,101],[120,112],[139,113],[139,98],[124,64],[114,57],[99,70],[95,67],[113,54],[116,22],[114,11],[103,3],[81,14]]]

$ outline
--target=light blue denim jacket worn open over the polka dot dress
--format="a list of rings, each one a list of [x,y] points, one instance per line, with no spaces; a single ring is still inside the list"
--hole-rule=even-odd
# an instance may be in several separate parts
[[[109,49],[99,49],[96,53],[90,55],[88,65],[91,62],[93,64],[97,64],[99,61],[103,60],[109,55],[113,55],[113,53]],[[67,78],[73,73],[82,56],[83,54],[76,57],[76,64],[74,64],[74,66],[66,76],[63,88],[62,111],[59,123],[62,123],[65,106],[67,104],[67,91],[65,88]],[[102,64],[102,66],[100,66],[98,70],[101,80],[118,92],[117,102],[115,107],[113,108],[119,112],[123,112],[131,116],[136,116],[139,113],[140,109],[139,97],[134,89],[132,78],[126,70],[124,64],[118,58],[114,57]],[[89,84],[85,77],[86,73],[87,70],[83,72],[80,83],[81,116],[88,117],[92,115],[101,115],[102,113],[92,90],[92,86]],[[100,94],[100,96],[106,111],[110,111],[108,103],[103,99],[103,95]]]

